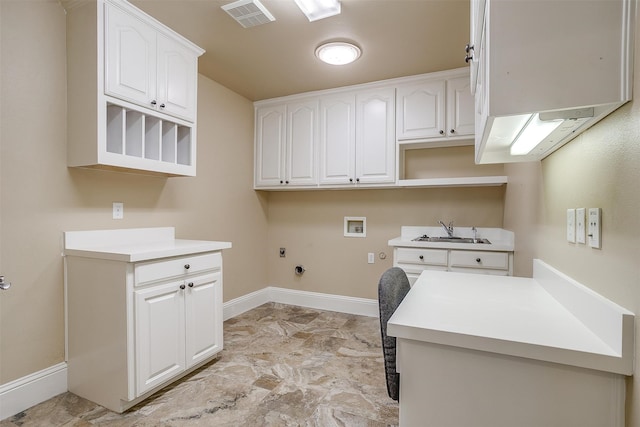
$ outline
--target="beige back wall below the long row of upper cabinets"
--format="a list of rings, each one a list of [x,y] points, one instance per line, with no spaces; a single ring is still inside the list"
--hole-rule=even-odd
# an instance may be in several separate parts
[[[380,275],[393,265],[387,244],[403,225],[502,227],[504,187],[336,190],[269,195],[269,284],[377,298]],[[344,237],[344,217],[367,218],[365,238]],[[287,257],[279,258],[285,247]],[[367,253],[376,254],[375,264]],[[378,255],[384,252],[385,260]],[[306,272],[296,276],[294,267]]]

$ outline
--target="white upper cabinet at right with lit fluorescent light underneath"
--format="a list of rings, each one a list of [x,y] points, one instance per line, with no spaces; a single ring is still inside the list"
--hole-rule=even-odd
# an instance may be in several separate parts
[[[635,0],[471,8],[476,163],[541,160],[631,100]]]

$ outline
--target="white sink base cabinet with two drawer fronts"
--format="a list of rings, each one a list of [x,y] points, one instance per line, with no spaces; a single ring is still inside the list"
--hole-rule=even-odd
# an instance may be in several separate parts
[[[513,252],[396,247],[393,265],[407,273],[411,285],[424,270],[511,276]]]

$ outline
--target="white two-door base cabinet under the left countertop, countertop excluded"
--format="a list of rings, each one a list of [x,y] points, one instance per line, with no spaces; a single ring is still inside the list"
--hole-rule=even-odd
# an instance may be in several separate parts
[[[67,254],[65,288],[69,391],[112,411],[223,349],[221,251],[141,262]]]

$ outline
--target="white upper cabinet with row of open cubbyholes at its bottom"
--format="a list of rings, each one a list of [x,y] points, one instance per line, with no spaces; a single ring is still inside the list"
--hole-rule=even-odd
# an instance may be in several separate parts
[[[124,0],[67,6],[67,164],[194,176],[202,49]]]

